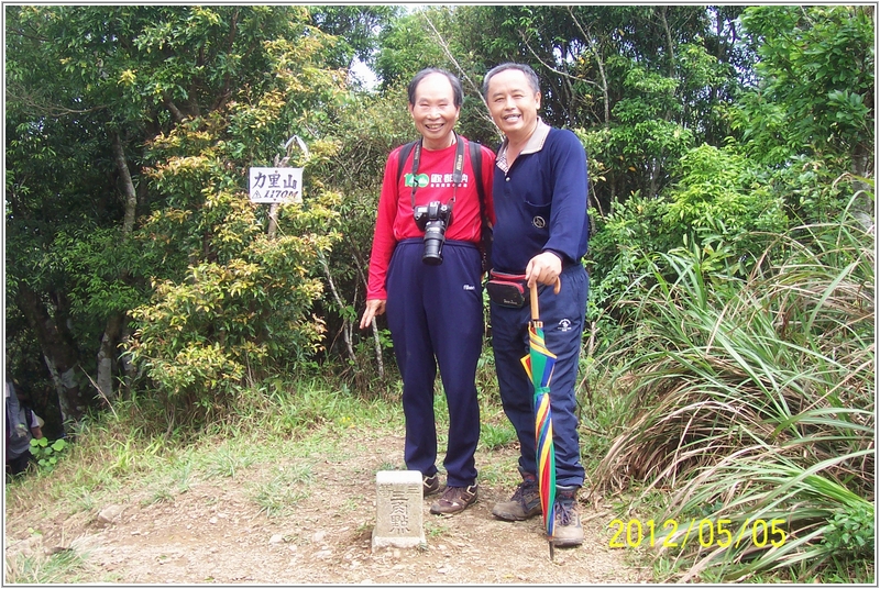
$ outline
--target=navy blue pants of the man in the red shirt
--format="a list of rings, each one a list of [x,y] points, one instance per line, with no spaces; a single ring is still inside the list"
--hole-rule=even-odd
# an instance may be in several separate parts
[[[474,384],[484,332],[480,251],[448,241],[439,266],[424,264],[424,251],[421,238],[398,243],[386,281],[388,326],[404,380],[404,459],[410,470],[437,473],[433,382],[439,366],[449,405],[447,485],[466,487],[476,482],[480,441]]]

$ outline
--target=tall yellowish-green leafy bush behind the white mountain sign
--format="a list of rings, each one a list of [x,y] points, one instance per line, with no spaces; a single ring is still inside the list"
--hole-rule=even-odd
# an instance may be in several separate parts
[[[266,208],[242,185],[248,167],[293,157],[278,162],[283,147],[265,137],[286,138],[306,125],[309,105],[341,99],[336,74],[311,64],[326,42],[316,33],[270,43],[276,87],[243,88],[226,108],[151,142],[145,174],[161,198],[134,240],[155,268],[153,296],[131,311],[128,351],[158,397],[188,418],[221,414],[245,378],[284,374],[321,346],[312,305],[323,290],[320,260],[339,240],[340,197],[311,178],[301,204],[278,207],[270,235]],[[292,165],[308,177],[337,148],[316,140]]]

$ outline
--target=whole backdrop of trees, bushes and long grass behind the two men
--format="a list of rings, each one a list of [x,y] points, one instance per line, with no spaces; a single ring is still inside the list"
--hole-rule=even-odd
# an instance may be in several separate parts
[[[406,84],[458,74],[459,130],[494,147],[482,77],[519,60],[587,151],[602,488],[679,518],[809,504],[785,549],[674,555],[688,578],[846,579],[872,552],[871,7],[4,10],[7,376],[52,437],[128,402],[212,427],[315,371],[387,390],[384,318],[356,323]],[[248,169],[285,165],[304,203],[273,219]]]

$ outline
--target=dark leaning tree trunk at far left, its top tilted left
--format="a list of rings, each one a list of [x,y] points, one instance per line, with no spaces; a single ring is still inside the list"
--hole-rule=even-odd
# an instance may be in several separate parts
[[[72,423],[79,423],[86,410],[74,371],[78,365],[77,351],[66,341],[58,324],[30,286],[19,284],[15,302],[36,333],[43,358],[58,392],[58,407],[66,431]]]

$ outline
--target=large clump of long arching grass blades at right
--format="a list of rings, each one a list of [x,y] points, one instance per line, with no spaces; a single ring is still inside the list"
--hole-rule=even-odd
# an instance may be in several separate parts
[[[627,418],[596,488],[664,491],[658,521],[779,531],[682,547],[680,525],[663,578],[872,581],[873,244],[844,214],[779,236],[743,280],[678,251],[634,281],[609,379]]]

